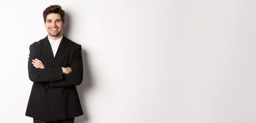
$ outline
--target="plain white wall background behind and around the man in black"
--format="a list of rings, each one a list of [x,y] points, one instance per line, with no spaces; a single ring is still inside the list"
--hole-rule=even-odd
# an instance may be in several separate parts
[[[255,0],[5,1],[0,4],[1,123],[25,116],[29,45],[43,10],[66,12],[82,45],[84,115],[75,123],[255,123]]]

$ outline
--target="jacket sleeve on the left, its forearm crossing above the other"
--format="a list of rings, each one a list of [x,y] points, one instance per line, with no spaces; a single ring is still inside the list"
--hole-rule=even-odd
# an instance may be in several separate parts
[[[40,50],[36,48],[35,44],[29,46],[29,58],[28,58],[28,75],[32,82],[54,82],[63,80],[62,68],[36,68],[32,64],[32,60],[40,59]]]

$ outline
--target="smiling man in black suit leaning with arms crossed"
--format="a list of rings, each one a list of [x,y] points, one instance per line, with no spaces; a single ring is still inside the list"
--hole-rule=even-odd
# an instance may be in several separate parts
[[[74,123],[83,115],[76,90],[83,79],[82,49],[62,34],[64,16],[59,5],[47,7],[48,35],[29,47],[28,73],[34,83],[25,115],[34,123]]]

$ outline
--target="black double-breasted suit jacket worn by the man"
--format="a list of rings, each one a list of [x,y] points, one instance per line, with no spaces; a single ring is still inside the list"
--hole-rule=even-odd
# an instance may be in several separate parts
[[[34,82],[25,115],[43,121],[57,121],[83,115],[76,90],[83,79],[81,45],[62,38],[54,58],[46,36],[29,47],[28,75]],[[45,69],[35,68],[33,59],[39,59]],[[62,74],[61,67],[72,72]]]

